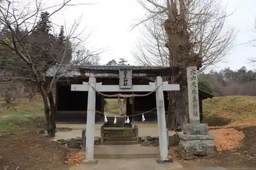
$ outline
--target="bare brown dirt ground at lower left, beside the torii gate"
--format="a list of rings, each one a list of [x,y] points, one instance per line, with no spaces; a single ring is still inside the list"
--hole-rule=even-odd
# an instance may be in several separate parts
[[[69,166],[63,160],[69,153],[69,149],[38,134],[38,129],[0,136],[0,169],[4,170],[66,170]]]

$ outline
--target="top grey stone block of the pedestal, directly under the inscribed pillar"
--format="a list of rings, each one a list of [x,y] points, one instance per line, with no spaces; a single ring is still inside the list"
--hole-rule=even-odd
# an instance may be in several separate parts
[[[182,131],[187,135],[206,135],[209,132],[207,124],[185,124]]]

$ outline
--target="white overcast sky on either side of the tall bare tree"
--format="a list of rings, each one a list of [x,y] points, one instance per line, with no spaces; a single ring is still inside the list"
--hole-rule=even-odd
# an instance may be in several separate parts
[[[52,0],[47,1],[53,2]],[[62,0],[54,1],[54,3],[58,2],[61,3]],[[134,64],[131,52],[136,51],[135,45],[138,42],[138,37],[142,35],[142,30],[135,29],[132,32],[130,30],[138,20],[145,17],[145,11],[137,3],[137,0],[75,0],[74,2],[97,2],[97,4],[66,7],[52,17],[53,22],[61,25],[66,21],[66,25],[70,27],[74,20],[79,20],[80,30],[77,32],[85,27],[87,30],[83,32],[84,37],[92,32],[87,45],[93,46],[94,49],[106,49],[106,52],[101,55],[101,64],[119,58],[125,58]],[[256,57],[256,47],[252,47],[252,44],[239,44],[256,38],[256,29],[253,28],[256,18],[256,1],[223,0],[223,4],[227,4],[228,13],[231,14],[235,11],[233,15],[227,18],[224,29],[233,28],[239,33],[232,43],[230,54],[226,56],[223,62],[217,64],[215,69],[219,70],[225,67],[238,69],[242,66],[253,69],[254,66],[249,64],[246,58]]]

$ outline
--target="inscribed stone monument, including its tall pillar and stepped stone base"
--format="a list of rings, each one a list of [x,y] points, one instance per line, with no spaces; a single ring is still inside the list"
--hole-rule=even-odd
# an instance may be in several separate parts
[[[207,124],[200,124],[197,67],[187,67],[189,124],[177,132],[180,141],[178,151],[183,159],[194,156],[216,155],[215,135],[209,134]]]

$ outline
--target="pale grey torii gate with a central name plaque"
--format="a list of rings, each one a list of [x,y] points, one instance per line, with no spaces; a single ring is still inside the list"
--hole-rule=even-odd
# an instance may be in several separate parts
[[[132,70],[119,69],[119,85],[102,85],[96,83],[95,74],[90,73],[89,82],[72,84],[71,91],[88,91],[87,131],[86,131],[86,162],[94,162],[94,125],[96,91],[99,92],[150,92],[156,91],[157,120],[159,133],[160,161],[168,160],[168,142],[164,109],[163,91],[179,91],[179,84],[162,82],[162,77],[157,76],[156,82],[150,85],[132,85]]]

